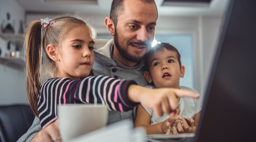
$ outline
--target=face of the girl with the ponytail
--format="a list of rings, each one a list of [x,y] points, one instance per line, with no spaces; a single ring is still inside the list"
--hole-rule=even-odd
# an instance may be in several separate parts
[[[79,80],[89,75],[93,68],[94,41],[85,25],[78,25],[61,40],[58,48],[57,77]]]

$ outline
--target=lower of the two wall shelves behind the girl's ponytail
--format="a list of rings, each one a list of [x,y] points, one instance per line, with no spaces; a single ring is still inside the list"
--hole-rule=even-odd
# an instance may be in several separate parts
[[[18,70],[24,70],[25,59],[15,58],[15,57],[0,57],[0,64],[6,65]]]

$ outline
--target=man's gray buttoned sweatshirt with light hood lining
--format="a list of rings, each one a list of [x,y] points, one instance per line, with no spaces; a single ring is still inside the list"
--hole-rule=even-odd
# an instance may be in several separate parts
[[[144,62],[141,61],[135,67],[127,67],[121,64],[118,60],[116,60],[112,55],[113,43],[114,40],[111,39],[109,41],[96,39],[95,40],[95,52],[94,52],[94,65],[93,72],[94,75],[105,75],[111,76],[118,79],[131,79],[137,82],[138,85],[146,86],[146,80],[143,77],[143,67]],[[100,45],[104,45],[101,47]],[[101,47],[101,48],[99,48]],[[119,111],[109,111],[108,124],[124,120],[135,118],[135,109],[119,112]],[[35,117],[33,124],[28,129],[28,131],[18,139],[17,142],[29,142],[35,134],[41,130],[41,125],[39,118]]]

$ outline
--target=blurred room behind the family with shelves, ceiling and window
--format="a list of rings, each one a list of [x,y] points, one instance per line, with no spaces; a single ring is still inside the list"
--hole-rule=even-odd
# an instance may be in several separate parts
[[[112,0],[0,0],[0,106],[28,104],[23,42],[33,20],[57,16],[88,19],[98,38],[111,39],[104,24]],[[204,94],[218,35],[229,0],[155,0],[155,40],[181,53],[185,76],[180,85]],[[47,75],[45,76],[47,78]]]

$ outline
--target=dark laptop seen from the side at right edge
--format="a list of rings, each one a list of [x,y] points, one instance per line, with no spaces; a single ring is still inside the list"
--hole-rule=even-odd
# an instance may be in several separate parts
[[[255,0],[230,0],[195,137],[148,135],[148,141],[256,141],[255,7]]]

